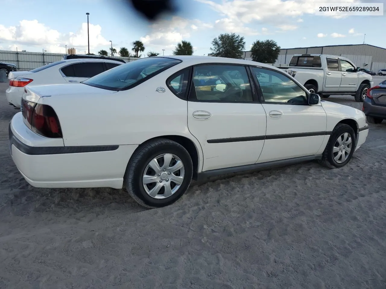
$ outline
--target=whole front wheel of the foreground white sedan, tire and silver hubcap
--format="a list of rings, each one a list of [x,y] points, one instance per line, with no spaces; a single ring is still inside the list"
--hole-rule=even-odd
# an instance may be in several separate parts
[[[341,168],[351,160],[355,150],[354,129],[347,124],[335,126],[319,163],[327,168]]]

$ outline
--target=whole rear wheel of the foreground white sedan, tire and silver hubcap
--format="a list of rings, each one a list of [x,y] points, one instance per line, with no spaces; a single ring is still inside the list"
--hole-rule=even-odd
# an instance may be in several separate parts
[[[140,205],[171,205],[188,190],[193,176],[191,157],[181,144],[155,139],[143,144],[129,161],[126,190]]]

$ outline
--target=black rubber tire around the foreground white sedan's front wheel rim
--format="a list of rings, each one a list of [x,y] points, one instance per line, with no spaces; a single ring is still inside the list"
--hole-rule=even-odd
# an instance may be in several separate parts
[[[333,149],[338,138],[344,133],[350,134],[352,146],[351,146],[351,151],[347,156],[347,159],[342,163],[338,163],[337,161],[334,160]],[[325,150],[323,151],[322,159],[318,161],[322,166],[325,166],[327,168],[331,168],[331,169],[341,168],[342,166],[347,165],[347,163],[349,163],[349,161],[351,160],[352,154],[355,151],[355,144],[356,144],[356,136],[355,136],[354,129],[352,129],[351,126],[344,123],[337,124],[337,126],[335,126],[334,130],[332,131],[332,134],[330,135],[330,139],[328,140]]]

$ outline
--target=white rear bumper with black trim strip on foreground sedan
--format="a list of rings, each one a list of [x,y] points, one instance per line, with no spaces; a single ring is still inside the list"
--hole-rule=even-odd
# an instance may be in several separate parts
[[[17,113],[9,125],[9,148],[17,169],[37,188],[122,188],[137,145],[64,146],[63,139],[31,131]],[[61,144],[60,144],[61,142]]]

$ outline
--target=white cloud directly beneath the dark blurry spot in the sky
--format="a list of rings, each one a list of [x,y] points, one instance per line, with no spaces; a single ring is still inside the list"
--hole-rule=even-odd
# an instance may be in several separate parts
[[[174,49],[181,40],[188,39],[191,32],[211,28],[213,28],[213,25],[203,23],[200,20],[188,20],[175,16],[171,20],[161,20],[152,24],[150,33],[140,37],[139,40],[144,43],[147,49],[170,50]]]

